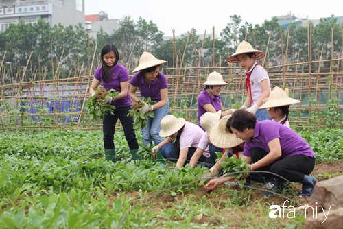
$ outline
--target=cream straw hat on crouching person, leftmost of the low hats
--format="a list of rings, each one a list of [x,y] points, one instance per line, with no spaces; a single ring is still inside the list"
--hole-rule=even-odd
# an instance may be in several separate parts
[[[185,125],[185,122],[186,120],[183,118],[176,118],[174,115],[166,115],[161,119],[160,136],[164,138],[171,134],[175,134]]]

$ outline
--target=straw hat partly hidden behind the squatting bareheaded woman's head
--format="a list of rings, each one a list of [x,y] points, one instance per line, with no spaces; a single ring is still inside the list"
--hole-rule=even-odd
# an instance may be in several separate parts
[[[210,134],[210,141],[216,147],[224,148],[232,148],[235,147],[244,141],[237,138],[235,134],[231,134],[226,131],[226,123],[231,115],[227,115],[222,117],[220,121],[217,121],[213,126]]]

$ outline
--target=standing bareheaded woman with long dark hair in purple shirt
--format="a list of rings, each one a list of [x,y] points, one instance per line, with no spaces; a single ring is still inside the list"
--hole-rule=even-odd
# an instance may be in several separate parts
[[[133,158],[137,158],[137,143],[136,134],[133,129],[133,118],[128,116],[128,111],[131,109],[131,98],[128,94],[128,70],[123,65],[118,63],[119,53],[114,45],[105,45],[101,51],[102,66],[99,67],[94,74],[94,79],[89,88],[89,93],[94,95],[99,84],[102,84],[106,90],[115,89],[119,92],[116,97],[106,97],[104,103],[110,103],[115,106],[114,115],[108,113],[105,115],[102,122],[104,133],[104,148],[106,160],[115,162],[115,143],[113,142],[115,134],[115,124],[119,119],[123,125],[126,141],[130,148]]]

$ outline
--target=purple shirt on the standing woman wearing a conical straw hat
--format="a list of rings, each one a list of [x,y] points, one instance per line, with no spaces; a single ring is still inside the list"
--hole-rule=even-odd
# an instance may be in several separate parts
[[[150,97],[152,101],[161,101],[161,89],[168,88],[167,77],[160,72],[159,76],[155,78],[149,85],[145,82],[143,73],[140,71],[130,80],[132,86],[136,86],[141,91],[141,97]]]

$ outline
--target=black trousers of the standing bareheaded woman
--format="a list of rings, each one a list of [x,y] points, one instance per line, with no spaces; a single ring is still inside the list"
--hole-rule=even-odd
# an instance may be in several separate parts
[[[121,125],[123,125],[123,130],[125,134],[126,141],[131,149],[138,149],[139,145],[137,142],[136,134],[133,129],[133,117],[128,116],[128,111],[131,109],[131,106],[126,106],[123,108],[115,108],[111,115],[108,113],[105,115],[104,120],[102,121],[102,130],[104,133],[104,148],[105,149],[114,149],[115,143],[113,138],[115,136],[115,124],[119,119]]]

